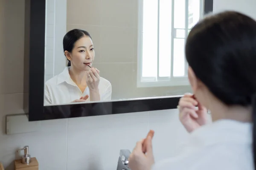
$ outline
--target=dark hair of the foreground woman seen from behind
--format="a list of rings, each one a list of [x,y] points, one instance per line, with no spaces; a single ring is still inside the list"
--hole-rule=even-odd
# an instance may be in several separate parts
[[[224,11],[198,22],[186,41],[186,59],[195,75],[226,105],[253,108],[256,165],[256,21]]]

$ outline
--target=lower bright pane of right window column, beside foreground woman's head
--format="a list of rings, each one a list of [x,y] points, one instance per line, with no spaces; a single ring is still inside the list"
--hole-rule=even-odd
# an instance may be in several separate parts
[[[174,39],[173,77],[185,76],[184,39]]]

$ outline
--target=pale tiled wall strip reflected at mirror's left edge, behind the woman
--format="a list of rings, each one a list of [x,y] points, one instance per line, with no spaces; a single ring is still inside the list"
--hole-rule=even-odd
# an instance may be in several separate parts
[[[44,79],[60,74],[66,58],[62,40],[67,30],[67,0],[46,0]]]

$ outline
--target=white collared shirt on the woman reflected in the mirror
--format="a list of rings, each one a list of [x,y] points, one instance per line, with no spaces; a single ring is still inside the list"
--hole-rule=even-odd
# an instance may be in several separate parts
[[[55,77],[52,77],[45,83],[44,87],[44,105],[69,104],[81,96],[89,95],[86,102],[90,101],[90,91],[86,87],[84,93],[70,77],[69,67]],[[99,81],[100,101],[110,101],[112,94],[111,83],[100,77]]]

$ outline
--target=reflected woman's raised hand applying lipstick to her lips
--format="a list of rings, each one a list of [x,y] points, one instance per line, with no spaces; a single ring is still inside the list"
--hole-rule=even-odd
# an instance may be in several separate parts
[[[90,91],[99,91],[99,70],[97,68],[90,68],[87,71],[86,83]]]

